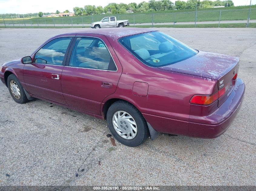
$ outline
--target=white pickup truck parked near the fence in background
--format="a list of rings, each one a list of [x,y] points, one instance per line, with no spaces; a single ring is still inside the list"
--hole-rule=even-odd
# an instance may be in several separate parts
[[[91,24],[91,28],[99,29],[106,27],[125,27],[129,25],[129,20],[117,21],[116,17],[105,17],[101,21]]]

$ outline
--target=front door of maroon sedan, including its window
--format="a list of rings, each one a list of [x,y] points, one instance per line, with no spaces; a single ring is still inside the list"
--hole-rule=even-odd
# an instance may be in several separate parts
[[[35,54],[33,63],[25,64],[23,76],[29,93],[66,105],[61,87],[62,62],[71,39],[62,37],[48,42]]]

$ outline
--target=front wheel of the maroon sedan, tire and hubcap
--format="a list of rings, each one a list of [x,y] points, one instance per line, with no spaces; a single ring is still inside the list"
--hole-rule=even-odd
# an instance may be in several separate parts
[[[7,84],[8,84],[9,92],[14,101],[16,101],[17,103],[28,102],[28,98],[24,92],[24,89],[20,81],[14,74],[11,74],[8,76]]]

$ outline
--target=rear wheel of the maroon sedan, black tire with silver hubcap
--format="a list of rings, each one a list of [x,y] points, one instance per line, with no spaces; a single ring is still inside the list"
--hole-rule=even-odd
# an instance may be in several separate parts
[[[116,117],[119,116],[118,119],[114,115]],[[122,115],[123,118],[121,117]],[[141,145],[149,136],[148,125],[141,112],[134,105],[126,101],[117,101],[109,107],[107,123],[111,134],[116,140],[129,147]]]

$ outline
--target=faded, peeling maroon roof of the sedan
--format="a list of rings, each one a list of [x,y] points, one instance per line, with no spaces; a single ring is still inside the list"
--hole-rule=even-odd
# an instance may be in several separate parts
[[[100,28],[100,29],[89,29],[89,30],[78,30],[74,33],[77,33],[77,35],[85,35],[88,33],[92,34],[102,34],[105,37],[109,39],[119,39],[121,37],[126,37],[134,34],[139,34],[139,33],[146,33],[146,32],[151,32],[151,31],[156,31],[154,29],[149,29],[149,28]],[[70,34],[70,33],[68,33]]]

